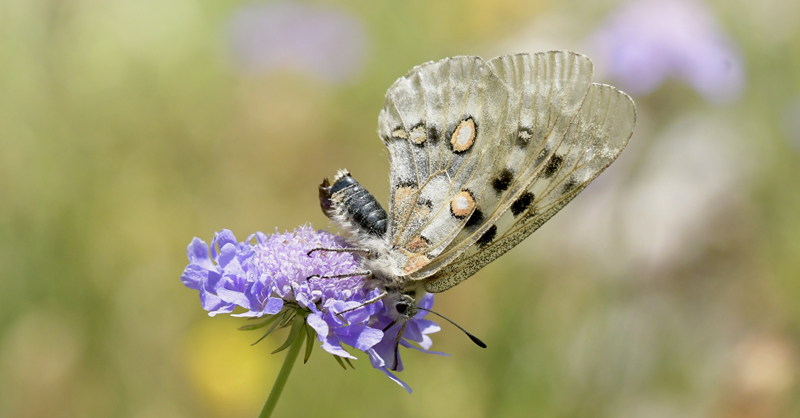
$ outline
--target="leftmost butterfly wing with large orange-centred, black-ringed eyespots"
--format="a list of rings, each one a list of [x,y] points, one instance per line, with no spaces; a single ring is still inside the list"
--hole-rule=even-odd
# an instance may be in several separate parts
[[[478,57],[418,66],[387,92],[379,133],[392,167],[388,237],[398,275],[427,264],[474,210],[503,154],[507,102],[506,86]]]

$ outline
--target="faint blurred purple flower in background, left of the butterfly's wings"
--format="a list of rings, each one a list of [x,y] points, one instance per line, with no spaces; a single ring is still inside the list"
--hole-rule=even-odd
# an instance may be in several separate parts
[[[245,72],[295,70],[327,82],[354,78],[367,34],[358,18],[319,5],[250,3],[228,24],[234,64]]]

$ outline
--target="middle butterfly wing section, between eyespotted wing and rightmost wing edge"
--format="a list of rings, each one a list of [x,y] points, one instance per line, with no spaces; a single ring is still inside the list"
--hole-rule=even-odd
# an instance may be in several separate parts
[[[448,247],[411,275],[436,273],[467,248],[502,234],[495,226],[559,149],[591,85],[592,64],[583,55],[553,51],[498,57],[493,72],[509,89],[510,104],[501,119],[498,163],[477,199],[477,209]]]

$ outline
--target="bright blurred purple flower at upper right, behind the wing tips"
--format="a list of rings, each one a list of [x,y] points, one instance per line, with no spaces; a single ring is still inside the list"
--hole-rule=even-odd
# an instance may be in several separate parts
[[[673,78],[709,101],[727,102],[744,87],[738,50],[698,1],[631,1],[607,19],[590,44],[597,68],[628,93],[649,93]]]

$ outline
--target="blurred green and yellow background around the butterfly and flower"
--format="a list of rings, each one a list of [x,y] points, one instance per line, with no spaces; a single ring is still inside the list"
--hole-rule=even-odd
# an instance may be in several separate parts
[[[3,0],[0,416],[254,417],[251,347],[179,280],[192,237],[384,204],[388,86],[570,49],[630,93],[619,160],[437,310],[407,395],[315,350],[276,416],[800,416],[800,2]]]

